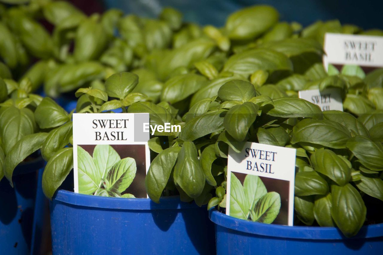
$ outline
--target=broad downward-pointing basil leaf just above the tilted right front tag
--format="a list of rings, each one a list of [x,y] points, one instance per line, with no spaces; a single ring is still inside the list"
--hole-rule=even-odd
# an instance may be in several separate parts
[[[250,126],[257,117],[258,108],[258,105],[246,102],[242,105],[233,106],[228,113],[226,113],[223,126],[236,141],[244,141]]]

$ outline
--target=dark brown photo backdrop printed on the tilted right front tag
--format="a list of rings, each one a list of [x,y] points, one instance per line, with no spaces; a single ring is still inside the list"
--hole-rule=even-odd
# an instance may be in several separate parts
[[[242,185],[246,177],[246,173],[236,173],[232,172],[241,181]],[[277,218],[273,221],[272,224],[279,225],[288,225],[288,197],[290,190],[290,181],[278,180],[273,178],[267,178],[259,176],[259,178],[263,181],[267,192],[275,191],[281,196],[281,209]]]

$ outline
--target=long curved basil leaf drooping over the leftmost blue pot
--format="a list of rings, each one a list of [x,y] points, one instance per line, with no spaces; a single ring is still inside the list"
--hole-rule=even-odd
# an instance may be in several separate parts
[[[12,174],[15,167],[26,157],[40,149],[47,135],[47,133],[36,133],[24,136],[8,152],[4,160],[4,175],[10,181],[12,187]]]

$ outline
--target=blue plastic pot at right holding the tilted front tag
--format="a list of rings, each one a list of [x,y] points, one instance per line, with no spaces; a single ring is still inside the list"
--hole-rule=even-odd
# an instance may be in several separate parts
[[[363,226],[346,238],[335,227],[263,224],[209,212],[215,223],[217,254],[381,254],[383,224]]]

